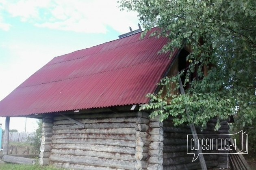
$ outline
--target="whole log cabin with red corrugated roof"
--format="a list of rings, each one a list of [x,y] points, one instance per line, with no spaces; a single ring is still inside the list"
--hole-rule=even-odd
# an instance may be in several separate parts
[[[154,31],[154,29],[153,29]],[[200,168],[187,154],[188,126],[174,127],[140,111],[157,83],[184,68],[185,49],[158,53],[167,38],[141,38],[141,29],[91,48],[54,57],[0,102],[6,117],[4,155],[8,155],[10,117],[42,119],[39,164],[96,170]],[[198,134],[228,134],[228,122],[208,122]],[[192,153],[192,151],[189,151]],[[218,153],[211,150],[211,153]],[[227,151],[223,151],[227,153]],[[207,167],[227,168],[228,156],[205,155]],[[11,158],[10,158],[11,159]],[[6,158],[5,161],[8,161]]]

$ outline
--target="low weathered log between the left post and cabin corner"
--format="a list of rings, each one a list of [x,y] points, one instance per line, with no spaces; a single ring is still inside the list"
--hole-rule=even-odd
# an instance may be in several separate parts
[[[14,164],[35,165],[37,159],[16,157],[16,156],[11,156],[11,155],[3,155],[2,161],[14,163]]]

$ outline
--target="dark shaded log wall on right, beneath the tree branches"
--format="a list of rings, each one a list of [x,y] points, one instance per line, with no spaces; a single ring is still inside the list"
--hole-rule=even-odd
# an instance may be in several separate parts
[[[221,134],[222,129],[225,128],[225,133],[228,133],[226,128],[227,122],[221,122],[221,128],[218,132],[214,131],[216,119],[212,119],[208,122],[206,129],[201,132],[200,128],[197,127],[197,134],[216,135]],[[225,125],[225,126],[223,126]],[[199,158],[193,161],[193,154],[187,154],[187,135],[191,134],[189,126],[174,127],[171,119],[164,121],[163,123],[163,169],[164,170],[193,170],[200,169]],[[192,136],[189,136],[189,140]],[[206,136],[198,136],[199,138],[205,138]],[[225,136],[223,136],[225,137]],[[207,136],[207,138],[211,138]],[[188,153],[196,153],[195,151],[188,150]],[[206,153],[206,151],[203,151]],[[210,150],[207,153],[220,153],[217,150]],[[226,151],[227,153],[227,151]],[[227,166],[227,155],[216,155],[216,154],[204,154],[206,160],[206,166],[210,167],[223,167]]]

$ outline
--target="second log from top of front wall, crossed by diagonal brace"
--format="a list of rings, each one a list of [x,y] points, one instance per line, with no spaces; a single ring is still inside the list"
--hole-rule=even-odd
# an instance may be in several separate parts
[[[81,123],[119,123],[119,122],[137,122],[137,117],[110,117],[110,118],[100,118],[100,119],[76,119]],[[65,125],[73,124],[72,121],[65,119],[54,121],[54,125]]]

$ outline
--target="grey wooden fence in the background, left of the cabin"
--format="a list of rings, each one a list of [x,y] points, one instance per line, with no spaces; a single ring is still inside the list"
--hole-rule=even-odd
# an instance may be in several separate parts
[[[35,134],[30,132],[10,132],[9,142],[25,143],[33,136],[35,136]]]

